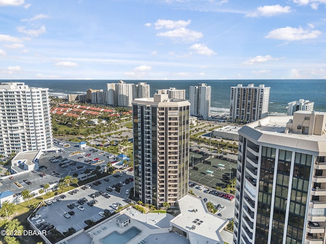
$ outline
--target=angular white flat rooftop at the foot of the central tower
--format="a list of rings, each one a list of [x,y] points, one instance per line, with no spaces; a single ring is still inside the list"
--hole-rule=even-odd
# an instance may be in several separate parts
[[[192,195],[180,199],[179,207],[181,214],[171,220],[171,223],[186,230],[191,243],[223,243],[220,231],[229,223],[228,220],[211,214],[204,202]]]

